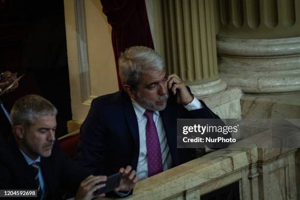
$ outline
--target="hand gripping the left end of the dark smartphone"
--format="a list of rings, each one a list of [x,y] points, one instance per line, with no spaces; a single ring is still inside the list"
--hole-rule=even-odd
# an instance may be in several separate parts
[[[94,192],[105,186],[105,183],[99,185],[96,184],[105,181],[106,181],[105,175],[88,176],[85,180],[83,180],[80,183],[75,196],[75,200],[92,200],[96,197],[104,197],[105,194],[95,195]]]

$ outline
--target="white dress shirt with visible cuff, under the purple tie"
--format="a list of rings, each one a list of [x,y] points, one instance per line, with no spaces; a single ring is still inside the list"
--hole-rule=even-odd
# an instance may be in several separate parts
[[[132,105],[137,117],[138,126],[139,126],[139,138],[140,138],[140,152],[139,160],[136,169],[137,176],[139,180],[145,179],[148,177],[148,158],[147,158],[147,145],[146,145],[146,123],[147,117],[144,116],[146,108],[142,107],[135,101],[132,101]],[[199,100],[194,98],[194,100],[184,106],[187,110],[196,110],[203,108]],[[166,132],[162,123],[161,116],[159,111],[154,111],[153,120],[156,125],[158,139],[160,143],[161,156],[163,162],[163,170],[168,170],[172,167],[172,157],[166,137]]]

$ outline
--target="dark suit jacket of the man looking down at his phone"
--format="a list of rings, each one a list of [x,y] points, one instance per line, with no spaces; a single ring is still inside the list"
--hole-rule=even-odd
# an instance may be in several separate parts
[[[2,144],[3,145],[3,144]],[[41,157],[41,169],[49,200],[59,200],[66,190],[74,193],[88,174],[65,156],[55,142],[49,157]],[[22,155],[15,138],[0,147],[0,189],[36,189],[31,166]]]

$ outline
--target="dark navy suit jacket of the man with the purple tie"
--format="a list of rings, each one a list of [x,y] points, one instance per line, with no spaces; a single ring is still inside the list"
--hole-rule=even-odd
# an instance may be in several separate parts
[[[179,118],[218,118],[201,101],[204,108],[188,111],[169,98],[160,111],[173,167],[194,159],[194,149],[177,149],[176,120]],[[139,158],[139,130],[132,102],[125,91],[98,97],[81,126],[77,161],[95,175],[111,175],[121,167],[137,168]]]

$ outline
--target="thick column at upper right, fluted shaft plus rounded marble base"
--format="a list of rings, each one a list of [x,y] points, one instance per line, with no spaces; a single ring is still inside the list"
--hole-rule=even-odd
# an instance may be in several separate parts
[[[245,93],[300,91],[300,0],[216,0],[219,71]]]

